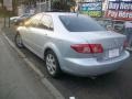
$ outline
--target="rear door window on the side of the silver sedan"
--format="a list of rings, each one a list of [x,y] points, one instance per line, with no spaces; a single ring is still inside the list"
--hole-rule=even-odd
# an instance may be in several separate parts
[[[53,20],[51,15],[43,15],[38,28],[53,31]]]

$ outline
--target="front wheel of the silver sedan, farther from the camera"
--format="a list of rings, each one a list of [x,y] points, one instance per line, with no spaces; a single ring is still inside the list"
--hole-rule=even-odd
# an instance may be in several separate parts
[[[20,35],[20,33],[16,33],[15,36],[14,36],[14,42],[15,42],[15,45],[19,47],[19,48],[23,48],[24,45],[22,43],[22,37]]]

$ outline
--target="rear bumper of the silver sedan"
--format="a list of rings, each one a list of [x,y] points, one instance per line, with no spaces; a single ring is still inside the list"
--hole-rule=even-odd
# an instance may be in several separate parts
[[[120,57],[103,62],[96,58],[65,58],[61,67],[62,70],[77,76],[98,76],[118,69],[129,56],[125,51]]]

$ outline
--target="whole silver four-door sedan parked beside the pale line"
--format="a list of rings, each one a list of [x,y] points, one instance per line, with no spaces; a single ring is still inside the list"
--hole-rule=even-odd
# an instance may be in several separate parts
[[[107,31],[87,15],[35,14],[16,30],[15,44],[44,59],[47,73],[98,76],[118,69],[130,56],[125,36]]]

